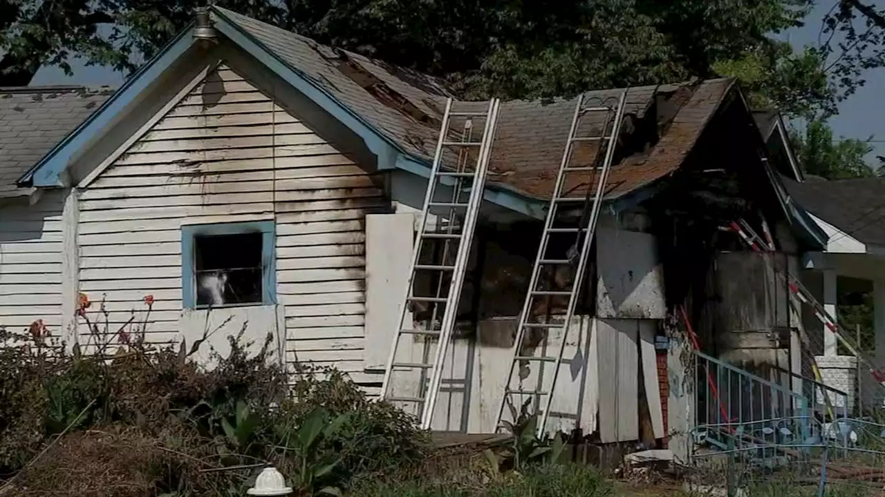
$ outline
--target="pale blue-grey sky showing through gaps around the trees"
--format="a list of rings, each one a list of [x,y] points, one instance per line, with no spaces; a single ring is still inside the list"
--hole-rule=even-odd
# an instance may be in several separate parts
[[[801,49],[805,44],[816,44],[820,32],[820,20],[836,0],[821,0],[808,17],[804,27],[783,34],[793,46]],[[885,7],[885,0],[869,1],[877,7]],[[73,61],[73,76],[65,76],[58,67],[44,67],[31,82],[32,85],[83,84],[89,86],[117,87],[123,75],[106,67],[86,66]],[[885,156],[885,68],[873,69],[866,74],[866,86],[850,96],[839,106],[839,115],[830,124],[836,136],[866,140],[871,135],[875,150],[872,155]]]

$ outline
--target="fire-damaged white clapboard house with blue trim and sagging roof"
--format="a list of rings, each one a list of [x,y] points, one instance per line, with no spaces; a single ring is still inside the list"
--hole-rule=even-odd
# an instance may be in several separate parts
[[[219,327],[212,343],[223,348],[245,327],[256,339],[271,333],[286,363],[335,366],[377,392],[447,92],[433,78],[211,12],[212,29],[182,33],[22,171],[21,191],[45,193],[0,209],[0,253],[16,257],[0,259],[0,288],[15,285],[0,290],[15,294],[2,294],[0,319],[19,326],[51,315],[64,333],[84,293],[104,300],[113,330],[132,310],[141,323],[150,295],[150,343],[183,336],[192,344]],[[495,430],[573,108],[502,105],[436,429]],[[774,258],[796,270],[802,252],[825,243],[778,174],[801,172],[769,164],[767,138],[732,80],[630,88],[556,426],[577,425],[603,443],[684,435],[694,421],[686,342],[656,352],[679,335],[672,318],[682,305],[705,351],[801,369],[792,339],[802,323],[773,290],[768,259],[736,251],[740,241],[719,229],[735,217],[766,218],[781,248]],[[595,152],[576,158],[586,164]],[[574,195],[587,187],[575,185]],[[43,227],[23,231],[30,219]],[[6,242],[15,237],[28,240],[22,247],[52,244],[22,258],[29,252]],[[39,278],[19,274],[32,263],[46,264]],[[45,306],[19,298],[43,294],[50,279],[55,296]],[[789,339],[771,338],[781,330]],[[66,338],[85,342],[88,330]],[[433,347],[416,339],[408,352]],[[417,385],[416,376],[399,387]],[[671,441],[685,452],[684,436]]]

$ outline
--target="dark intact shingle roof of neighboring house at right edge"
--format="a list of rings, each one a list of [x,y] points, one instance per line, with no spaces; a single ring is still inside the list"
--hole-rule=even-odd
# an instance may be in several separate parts
[[[861,243],[885,246],[885,178],[799,183],[783,178],[789,195],[804,209]]]

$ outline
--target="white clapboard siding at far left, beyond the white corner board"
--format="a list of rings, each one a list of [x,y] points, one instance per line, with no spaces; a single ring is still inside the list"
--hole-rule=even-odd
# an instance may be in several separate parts
[[[0,327],[22,331],[37,319],[62,331],[62,210],[65,192],[35,205],[0,208]]]

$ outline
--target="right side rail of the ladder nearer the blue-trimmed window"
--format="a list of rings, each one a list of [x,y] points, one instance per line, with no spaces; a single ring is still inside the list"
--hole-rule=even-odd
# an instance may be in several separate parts
[[[499,107],[500,101],[496,98],[492,99],[489,103],[489,117],[486,119],[486,126],[482,133],[479,157],[477,158],[476,169],[473,172],[475,180],[473,181],[473,187],[471,188],[470,197],[467,201],[464,226],[461,228],[461,241],[458,244],[458,254],[455,258],[455,268],[452,271],[449,294],[447,295],[445,303],[446,308],[443,313],[439,344],[436,348],[436,359],[430,375],[430,391],[427,401],[424,404],[421,427],[425,430],[430,428],[433,421],[436,400],[439,395],[440,385],[443,381],[442,365],[449,348],[451,335],[454,332],[455,319],[458,317],[458,304],[461,298],[461,290],[464,286],[464,277],[467,262],[470,257],[470,248],[473,245],[473,232],[476,227],[477,219],[479,218],[482,198],[484,196],[485,183],[488,176],[486,172],[489,168],[489,158],[491,156],[492,144],[495,139]]]

